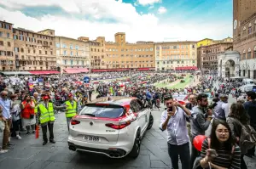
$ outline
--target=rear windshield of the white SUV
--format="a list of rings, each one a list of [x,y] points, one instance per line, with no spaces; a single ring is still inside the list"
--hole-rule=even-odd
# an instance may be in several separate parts
[[[113,105],[86,105],[83,110],[80,111],[79,115],[91,115],[94,117],[104,118],[118,118],[122,116],[124,109]]]

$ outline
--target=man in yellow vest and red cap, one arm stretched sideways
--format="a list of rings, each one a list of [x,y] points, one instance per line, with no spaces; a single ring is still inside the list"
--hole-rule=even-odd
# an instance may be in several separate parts
[[[55,106],[52,102],[49,102],[49,95],[44,95],[44,102],[38,104],[38,118],[41,123],[41,128],[43,132],[43,145],[47,144],[47,127],[49,130],[49,142],[55,144],[53,127],[55,122],[55,109],[64,109],[66,106]]]

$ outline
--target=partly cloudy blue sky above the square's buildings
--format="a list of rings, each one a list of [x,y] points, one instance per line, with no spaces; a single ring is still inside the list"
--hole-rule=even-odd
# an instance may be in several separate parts
[[[127,42],[232,37],[232,0],[1,0],[0,20],[62,37]]]

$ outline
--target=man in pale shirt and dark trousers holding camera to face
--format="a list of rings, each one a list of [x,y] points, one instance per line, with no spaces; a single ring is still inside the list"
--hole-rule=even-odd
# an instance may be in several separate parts
[[[182,168],[188,169],[190,153],[186,117],[190,117],[191,112],[182,104],[175,102],[171,95],[166,95],[164,100],[167,109],[161,115],[160,129],[167,129],[168,154],[172,161],[172,169],[178,169],[178,156]]]

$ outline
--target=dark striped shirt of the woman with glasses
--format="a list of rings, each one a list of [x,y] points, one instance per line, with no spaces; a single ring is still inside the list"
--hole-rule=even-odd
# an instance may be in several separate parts
[[[206,138],[201,146],[201,159],[207,155],[207,149],[209,149],[209,146]],[[212,164],[229,169],[241,168],[241,150],[238,145],[236,145],[234,152],[231,155],[230,152],[224,149],[224,147],[216,149],[216,152],[218,156],[212,160]]]

